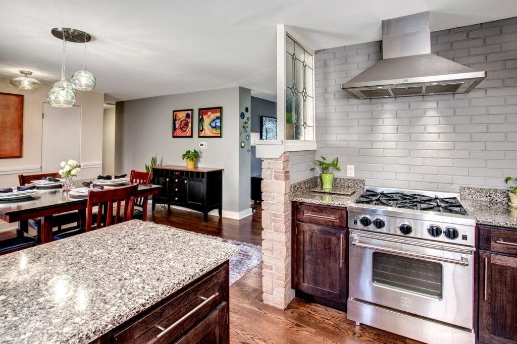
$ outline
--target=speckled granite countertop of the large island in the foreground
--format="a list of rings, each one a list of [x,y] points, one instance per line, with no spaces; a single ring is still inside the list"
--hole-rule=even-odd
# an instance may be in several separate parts
[[[1,256],[0,341],[89,342],[237,252],[132,220]]]

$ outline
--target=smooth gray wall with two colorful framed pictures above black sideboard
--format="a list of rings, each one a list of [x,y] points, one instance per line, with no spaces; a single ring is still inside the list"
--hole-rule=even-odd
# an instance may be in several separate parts
[[[246,100],[248,97],[248,100]],[[247,191],[249,204],[249,170],[240,173],[242,166],[250,165],[249,158],[239,155],[239,114],[241,103],[250,103],[249,90],[240,87],[182,93],[116,103],[115,171],[129,173],[143,170],[151,156],[158,153],[162,165],[185,165],[181,154],[188,149],[201,149],[199,167],[224,168],[223,212],[242,211],[240,190]],[[197,137],[197,110],[200,107],[222,106],[222,138]],[[194,109],[193,137],[172,138],[172,111]],[[248,154],[249,155],[249,154]],[[241,180],[242,179],[242,180]],[[223,214],[224,215],[224,214]],[[235,215],[235,214],[234,214]]]

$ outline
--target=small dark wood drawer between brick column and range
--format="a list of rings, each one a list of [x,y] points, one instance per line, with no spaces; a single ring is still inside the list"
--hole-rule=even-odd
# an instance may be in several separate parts
[[[296,208],[296,220],[318,225],[346,228],[346,209],[300,204]]]

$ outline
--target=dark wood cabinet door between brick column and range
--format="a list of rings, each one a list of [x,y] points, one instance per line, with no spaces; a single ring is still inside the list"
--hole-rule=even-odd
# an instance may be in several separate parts
[[[296,288],[346,302],[346,229],[298,222]]]

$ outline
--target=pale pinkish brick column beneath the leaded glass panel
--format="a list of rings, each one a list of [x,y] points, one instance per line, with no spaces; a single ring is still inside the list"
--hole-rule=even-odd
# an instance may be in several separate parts
[[[284,309],[291,289],[291,202],[289,153],[262,160],[262,299]]]

